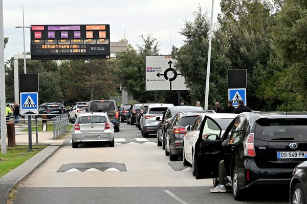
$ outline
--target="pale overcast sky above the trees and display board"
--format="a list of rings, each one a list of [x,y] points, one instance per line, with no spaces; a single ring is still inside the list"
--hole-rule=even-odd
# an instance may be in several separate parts
[[[214,1],[213,23],[221,12],[221,0]],[[5,60],[23,53],[23,6],[25,26],[47,24],[109,24],[111,42],[120,39],[136,48],[142,44],[140,35],[152,34],[160,44],[160,54],[169,54],[169,44],[181,47],[184,37],[179,33],[184,20],[193,20],[199,5],[211,16],[211,0],[4,0],[4,36],[9,38]],[[126,31],[126,32],[125,32]],[[26,52],[30,51],[30,29],[25,29]]]

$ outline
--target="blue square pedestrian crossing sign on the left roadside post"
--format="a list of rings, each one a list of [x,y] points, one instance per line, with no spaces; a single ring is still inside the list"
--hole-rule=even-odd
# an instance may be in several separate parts
[[[20,93],[21,110],[38,110],[38,93],[23,92]]]

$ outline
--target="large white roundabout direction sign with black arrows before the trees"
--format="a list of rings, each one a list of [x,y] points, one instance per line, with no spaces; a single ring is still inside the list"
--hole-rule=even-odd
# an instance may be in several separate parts
[[[146,91],[188,90],[171,56],[146,56]]]

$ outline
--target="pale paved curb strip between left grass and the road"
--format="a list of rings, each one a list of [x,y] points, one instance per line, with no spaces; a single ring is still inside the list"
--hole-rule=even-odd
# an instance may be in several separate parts
[[[60,145],[61,144],[53,144],[46,147],[25,163],[2,176],[0,178],[0,204],[6,204],[7,197],[12,188],[20,181],[24,180],[25,177],[32,173],[40,164],[45,162],[60,147]]]

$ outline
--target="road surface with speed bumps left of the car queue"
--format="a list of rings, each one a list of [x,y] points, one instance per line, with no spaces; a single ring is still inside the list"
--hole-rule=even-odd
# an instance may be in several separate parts
[[[285,188],[251,189],[245,201],[210,193],[212,180],[195,180],[135,125],[122,123],[115,138],[115,147],[68,142],[21,182],[14,203],[289,203]]]

